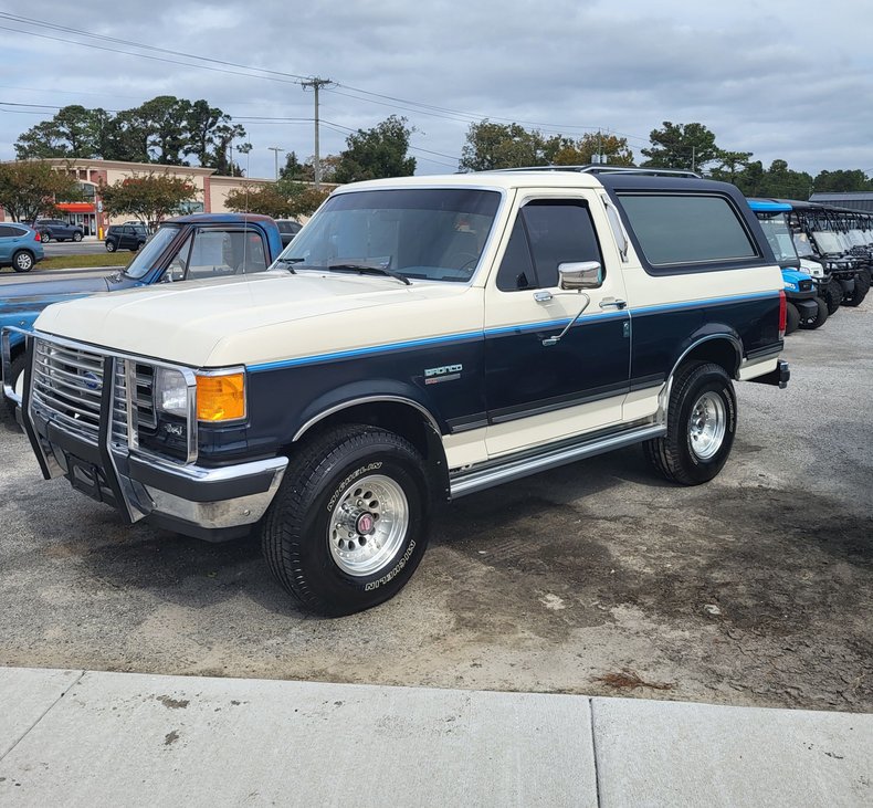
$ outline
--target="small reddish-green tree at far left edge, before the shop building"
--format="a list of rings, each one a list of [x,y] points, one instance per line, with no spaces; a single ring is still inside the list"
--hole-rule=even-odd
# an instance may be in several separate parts
[[[54,213],[55,203],[82,198],[77,180],[48,162],[0,162],[0,206],[14,221],[31,222]]]

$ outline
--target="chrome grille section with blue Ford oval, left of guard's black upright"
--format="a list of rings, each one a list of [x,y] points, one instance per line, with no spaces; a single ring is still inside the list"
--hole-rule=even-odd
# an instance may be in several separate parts
[[[90,443],[99,436],[103,357],[38,339],[31,401],[35,410]]]

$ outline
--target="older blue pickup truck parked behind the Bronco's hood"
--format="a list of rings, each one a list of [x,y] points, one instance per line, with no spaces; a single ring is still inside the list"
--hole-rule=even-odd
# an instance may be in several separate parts
[[[83,276],[81,273],[25,282],[0,283],[0,328],[30,329],[52,303],[98,292],[118,292],[154,283],[263,272],[282,252],[282,237],[273,219],[254,213],[194,213],[164,222],[122,272]],[[11,333],[9,378],[3,379],[0,419],[14,416],[24,368],[24,335]]]

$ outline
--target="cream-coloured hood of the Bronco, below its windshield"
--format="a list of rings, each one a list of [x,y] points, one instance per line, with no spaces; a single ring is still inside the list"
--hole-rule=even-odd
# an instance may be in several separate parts
[[[463,284],[272,271],[61,303],[35,328],[193,367],[259,365],[481,328],[473,292]]]

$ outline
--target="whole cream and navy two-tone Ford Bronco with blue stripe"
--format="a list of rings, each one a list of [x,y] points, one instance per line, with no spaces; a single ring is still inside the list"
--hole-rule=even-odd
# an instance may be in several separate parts
[[[409,580],[439,499],[633,443],[675,483],[712,480],[734,381],[788,381],[779,266],[721,182],[350,185],[274,267],[50,306],[23,420],[46,479],[129,522],[256,528],[324,615]]]

